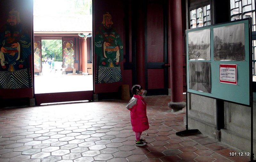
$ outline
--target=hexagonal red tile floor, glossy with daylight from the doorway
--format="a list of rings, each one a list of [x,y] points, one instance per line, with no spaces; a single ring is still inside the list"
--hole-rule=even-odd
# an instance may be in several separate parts
[[[0,110],[0,162],[250,161],[203,134],[177,136],[182,112],[170,96],[148,96],[147,145],[135,146],[128,101],[106,100]],[[145,134],[148,134],[145,135]]]

